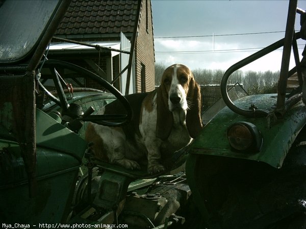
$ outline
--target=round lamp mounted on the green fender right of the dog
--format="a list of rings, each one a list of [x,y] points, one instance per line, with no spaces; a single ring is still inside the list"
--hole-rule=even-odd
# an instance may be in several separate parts
[[[230,145],[239,151],[258,152],[263,138],[256,125],[250,122],[236,122],[227,129]]]

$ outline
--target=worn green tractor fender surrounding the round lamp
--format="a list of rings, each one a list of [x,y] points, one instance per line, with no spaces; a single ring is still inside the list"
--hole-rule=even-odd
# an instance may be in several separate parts
[[[258,109],[272,111],[276,97],[271,94],[251,95],[235,101],[238,107],[248,109],[255,104]],[[271,116],[272,117],[272,116]],[[231,149],[226,137],[228,126],[237,121],[251,122],[257,126],[263,135],[263,147],[256,154],[235,152]],[[222,157],[242,158],[261,161],[279,168],[295,140],[306,123],[306,109],[302,101],[292,107],[284,117],[246,118],[223,108],[206,126],[191,146],[191,154],[214,155]]]

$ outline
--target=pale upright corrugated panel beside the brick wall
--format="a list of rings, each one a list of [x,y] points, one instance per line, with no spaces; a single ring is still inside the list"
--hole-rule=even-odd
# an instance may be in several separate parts
[[[124,34],[120,33],[120,41],[121,41],[121,50],[124,51],[130,51],[131,49],[131,42],[129,39],[127,39]],[[129,64],[129,54],[123,54],[120,55],[120,65],[121,70],[125,68]],[[136,87],[135,87],[135,57],[133,53],[133,63],[132,63],[132,72],[131,72],[131,82],[130,82],[130,88],[129,88],[129,94],[135,93]],[[124,71],[124,73],[121,75],[120,84],[121,84],[121,93],[125,93],[125,84],[126,84],[126,78],[127,78],[127,70]]]

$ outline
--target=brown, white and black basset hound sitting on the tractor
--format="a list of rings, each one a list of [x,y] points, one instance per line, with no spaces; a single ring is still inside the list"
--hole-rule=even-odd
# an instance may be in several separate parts
[[[182,64],[168,67],[161,85],[154,91],[126,96],[133,109],[133,119],[118,127],[89,123],[85,139],[100,160],[129,169],[140,169],[145,159],[148,173],[165,170],[162,155],[188,145],[202,129],[200,88],[190,69]],[[118,100],[98,114],[122,114]]]

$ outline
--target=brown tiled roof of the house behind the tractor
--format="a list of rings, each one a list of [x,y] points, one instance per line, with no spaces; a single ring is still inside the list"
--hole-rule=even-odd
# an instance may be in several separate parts
[[[133,33],[137,0],[72,0],[55,35]]]

